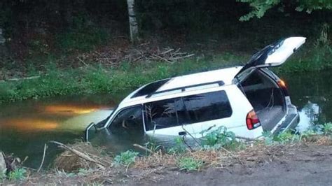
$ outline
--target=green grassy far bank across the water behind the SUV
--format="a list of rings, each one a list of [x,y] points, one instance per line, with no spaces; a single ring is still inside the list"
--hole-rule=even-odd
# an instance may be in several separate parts
[[[303,48],[301,50],[309,50]],[[282,67],[278,73],[321,71],[332,66],[331,48],[300,51]],[[89,64],[79,68],[58,68],[49,62],[43,73],[31,68],[27,76],[39,75],[30,80],[8,80],[0,83],[0,103],[25,99],[39,99],[48,96],[69,94],[97,94],[130,92],[153,80],[179,76],[188,73],[242,65],[249,54],[235,55],[225,52],[219,55],[195,55],[173,64],[167,62],[120,62],[116,68]]]

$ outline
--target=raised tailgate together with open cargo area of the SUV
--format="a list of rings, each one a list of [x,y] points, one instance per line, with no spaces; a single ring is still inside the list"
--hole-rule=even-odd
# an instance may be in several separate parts
[[[304,37],[291,37],[266,46],[251,57],[237,73],[235,84],[253,106],[265,131],[272,131],[287,113],[284,87],[262,68],[280,66],[305,43]],[[271,72],[272,73],[272,72]]]

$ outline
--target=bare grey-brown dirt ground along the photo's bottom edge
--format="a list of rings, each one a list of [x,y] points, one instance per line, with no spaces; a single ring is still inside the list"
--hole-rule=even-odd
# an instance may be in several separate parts
[[[227,154],[194,152],[194,157],[205,161],[205,167],[198,172],[179,171],[174,157],[155,155],[137,159],[129,169],[113,167],[83,175],[32,173],[15,184],[332,185],[331,144],[254,147]]]

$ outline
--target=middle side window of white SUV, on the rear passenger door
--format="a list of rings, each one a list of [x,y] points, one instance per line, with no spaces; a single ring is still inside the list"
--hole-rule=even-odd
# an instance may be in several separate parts
[[[186,122],[186,110],[181,98],[146,103],[144,112],[146,131],[179,126]]]

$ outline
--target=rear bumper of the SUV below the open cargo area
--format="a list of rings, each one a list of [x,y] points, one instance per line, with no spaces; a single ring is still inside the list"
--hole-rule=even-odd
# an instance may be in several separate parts
[[[279,134],[286,130],[295,130],[296,126],[300,122],[300,115],[298,115],[298,110],[295,106],[288,106],[288,113],[285,117],[284,122],[277,126],[273,134]]]

